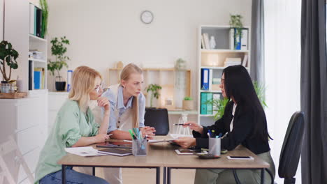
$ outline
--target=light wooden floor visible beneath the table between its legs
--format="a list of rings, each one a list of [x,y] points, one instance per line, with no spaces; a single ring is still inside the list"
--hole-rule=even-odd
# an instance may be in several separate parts
[[[171,183],[194,183],[195,169],[172,169]],[[96,176],[103,178],[103,169],[96,168]],[[153,184],[156,179],[155,169],[122,169],[124,184]],[[163,171],[161,169],[160,181],[163,183]]]

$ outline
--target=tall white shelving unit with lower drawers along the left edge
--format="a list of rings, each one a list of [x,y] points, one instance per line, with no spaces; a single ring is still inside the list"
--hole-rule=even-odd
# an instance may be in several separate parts
[[[1,0],[0,0],[1,1]],[[26,98],[0,99],[0,143],[14,137],[27,166],[34,173],[38,155],[48,137],[48,90],[29,91],[29,50],[43,52],[44,59],[32,59],[32,67],[45,68],[47,72],[47,40],[29,35],[29,1],[10,0],[5,3],[4,40],[13,44],[20,56],[18,68],[11,79],[22,80],[21,91],[29,92]],[[46,73],[45,73],[46,76]],[[46,86],[46,78],[45,78]],[[15,152],[5,158],[17,183],[28,183],[27,176],[15,164]]]

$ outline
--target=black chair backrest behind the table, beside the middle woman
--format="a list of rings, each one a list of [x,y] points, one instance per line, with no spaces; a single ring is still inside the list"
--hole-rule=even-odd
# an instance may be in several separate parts
[[[169,132],[167,109],[145,108],[144,124],[154,127],[156,135],[167,135]]]

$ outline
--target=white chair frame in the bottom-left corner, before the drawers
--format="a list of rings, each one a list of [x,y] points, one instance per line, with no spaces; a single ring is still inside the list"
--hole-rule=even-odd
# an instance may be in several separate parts
[[[12,153],[15,151],[15,160],[18,162],[18,168],[20,167],[20,164],[22,164],[22,168],[24,169],[25,173],[27,174],[27,178],[29,179],[30,183],[34,183],[34,177],[33,174],[31,174],[31,171],[29,170],[29,167],[27,167],[27,163],[25,162],[22,153],[20,153],[20,150],[18,149],[18,146],[13,139],[13,137],[9,137],[9,140],[4,142],[0,145],[0,184],[4,183],[4,180],[6,178],[6,183],[15,184],[15,178],[13,174],[11,174],[10,169],[8,167],[8,164],[6,163],[6,160],[3,158],[4,156],[8,155],[9,153]]]

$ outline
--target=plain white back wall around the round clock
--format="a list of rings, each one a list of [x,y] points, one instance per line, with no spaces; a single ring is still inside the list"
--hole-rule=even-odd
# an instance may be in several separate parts
[[[48,40],[66,36],[71,45],[69,69],[87,65],[99,70],[108,83],[108,68],[117,61],[141,67],[172,68],[178,58],[192,70],[196,97],[197,29],[201,24],[228,25],[231,13],[244,16],[250,26],[250,0],[49,0]],[[151,10],[152,24],[140,22],[140,13]],[[50,56],[50,41],[49,41]],[[62,71],[66,77],[66,69]],[[49,78],[48,88],[53,90]]]

